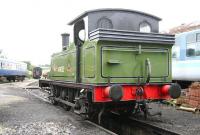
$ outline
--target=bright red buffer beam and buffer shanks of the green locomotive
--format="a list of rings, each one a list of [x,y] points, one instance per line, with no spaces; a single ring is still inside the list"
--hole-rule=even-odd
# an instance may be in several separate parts
[[[130,86],[123,85],[123,97],[121,101],[131,101],[136,99],[169,99],[170,96],[168,94],[168,90],[170,85],[144,85],[139,86],[144,90],[144,94],[142,96],[136,96],[136,89],[138,86]],[[109,89],[110,87],[105,86],[96,86],[93,92],[93,102],[110,102],[112,101],[109,98]]]

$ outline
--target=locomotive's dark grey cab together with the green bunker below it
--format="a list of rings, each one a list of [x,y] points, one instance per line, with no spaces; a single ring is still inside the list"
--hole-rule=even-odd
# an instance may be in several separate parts
[[[105,83],[108,78],[111,82],[117,83],[133,83],[133,80],[135,83],[135,78],[140,78],[141,81],[145,82],[142,79],[145,76],[144,72],[148,72],[144,71],[144,68],[147,68],[145,67],[145,61],[149,63],[149,59],[154,59],[154,54],[151,55],[148,52],[150,49],[147,51],[143,49],[143,44],[146,46],[146,43],[159,44],[159,42],[163,42],[170,44],[173,42],[173,37],[170,36],[161,37],[161,41],[157,38],[159,35],[156,35],[156,33],[159,31],[158,23],[160,20],[160,18],[153,15],[123,9],[92,10],[72,20],[69,25],[74,28],[72,35],[74,36],[73,40],[77,54],[76,82]],[[80,38],[81,32],[82,39]],[[141,33],[138,34],[139,32]],[[136,37],[132,37],[131,34],[135,34]],[[148,38],[151,35],[154,35],[153,38],[155,39]],[[116,52],[112,51],[116,48],[124,53],[121,53],[121,56],[116,55]],[[160,63],[151,61],[153,66],[151,67],[152,77],[160,77],[162,73],[162,79],[165,79],[166,76],[170,78],[170,50],[166,47],[155,46],[155,48],[160,57],[160,59],[157,57]],[[132,52],[125,52],[125,50]],[[99,51],[101,51],[100,54],[94,54]],[[153,50],[153,53],[155,51]],[[139,53],[146,53],[146,56],[149,55],[147,58],[150,57],[148,61],[147,58],[143,60],[143,65],[141,65],[141,61],[130,61],[130,59],[134,59],[134,55],[138,56],[138,60],[143,59],[140,56],[143,57],[144,55],[138,55]],[[99,55],[101,55],[101,58],[99,58]],[[126,59],[123,55],[128,58]],[[99,67],[102,68],[101,73],[98,72]],[[156,70],[158,68],[162,70]],[[124,81],[119,81],[119,78]]]

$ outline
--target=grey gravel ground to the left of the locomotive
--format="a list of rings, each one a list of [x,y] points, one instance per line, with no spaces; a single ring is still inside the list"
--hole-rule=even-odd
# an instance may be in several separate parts
[[[0,84],[0,135],[107,135],[78,115],[30,95],[22,89],[30,82]]]

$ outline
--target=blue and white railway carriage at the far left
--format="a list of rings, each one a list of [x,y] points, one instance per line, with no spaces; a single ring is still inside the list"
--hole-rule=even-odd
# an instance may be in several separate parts
[[[8,81],[23,81],[26,72],[26,63],[0,58],[0,77],[5,77]]]

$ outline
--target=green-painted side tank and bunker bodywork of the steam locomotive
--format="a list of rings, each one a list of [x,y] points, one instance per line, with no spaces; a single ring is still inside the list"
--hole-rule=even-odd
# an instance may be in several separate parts
[[[171,82],[171,47],[164,44],[85,41],[81,47],[82,83],[138,83],[147,79],[151,65],[150,82]],[[50,79],[75,82],[76,47],[70,44],[66,51],[54,54]],[[102,70],[102,71],[101,71]]]

